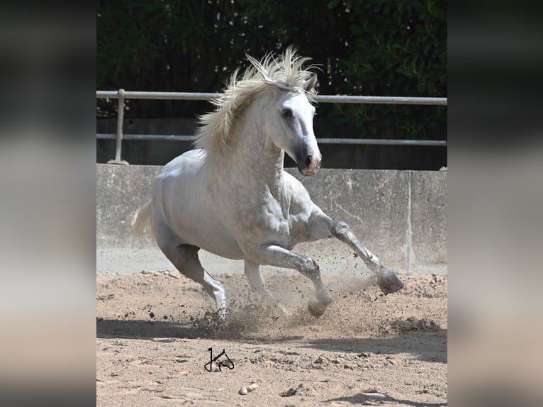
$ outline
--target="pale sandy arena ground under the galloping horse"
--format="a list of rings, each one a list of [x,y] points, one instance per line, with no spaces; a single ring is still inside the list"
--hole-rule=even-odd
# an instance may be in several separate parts
[[[318,319],[308,279],[265,278],[293,317],[221,274],[231,315],[217,325],[211,298],[178,272],[97,274],[96,405],[447,405],[447,277],[403,275],[384,296],[363,277],[324,276],[334,302]],[[210,347],[225,350],[212,372]]]

